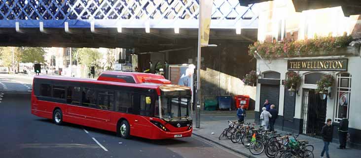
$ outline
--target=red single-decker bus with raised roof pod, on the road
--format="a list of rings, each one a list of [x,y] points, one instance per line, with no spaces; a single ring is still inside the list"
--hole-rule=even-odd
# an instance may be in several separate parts
[[[114,131],[122,138],[189,137],[191,90],[161,75],[105,71],[97,80],[34,77],[32,114]]]

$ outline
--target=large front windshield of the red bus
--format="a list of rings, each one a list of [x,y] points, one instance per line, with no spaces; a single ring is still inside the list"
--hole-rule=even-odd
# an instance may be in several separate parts
[[[166,121],[189,121],[190,97],[160,96],[161,118]]]

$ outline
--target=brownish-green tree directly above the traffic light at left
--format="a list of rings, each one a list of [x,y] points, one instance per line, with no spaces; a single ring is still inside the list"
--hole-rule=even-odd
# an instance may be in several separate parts
[[[22,53],[22,63],[45,63],[45,51],[41,47],[25,47]]]

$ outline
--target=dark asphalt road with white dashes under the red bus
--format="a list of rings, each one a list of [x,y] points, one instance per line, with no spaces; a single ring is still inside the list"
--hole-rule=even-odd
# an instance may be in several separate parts
[[[122,139],[114,132],[31,114],[31,78],[0,75],[0,158],[245,158],[201,137]],[[106,149],[106,150],[105,150]]]

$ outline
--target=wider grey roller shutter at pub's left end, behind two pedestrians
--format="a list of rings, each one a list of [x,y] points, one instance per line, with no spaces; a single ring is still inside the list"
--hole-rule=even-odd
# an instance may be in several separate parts
[[[268,99],[268,102],[276,105],[278,110],[278,105],[280,101],[280,86],[279,85],[265,85],[261,84],[261,96],[259,101],[259,111],[262,111],[264,101]]]

